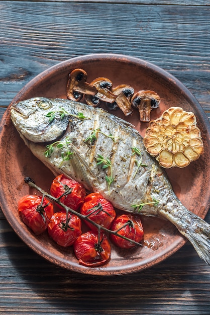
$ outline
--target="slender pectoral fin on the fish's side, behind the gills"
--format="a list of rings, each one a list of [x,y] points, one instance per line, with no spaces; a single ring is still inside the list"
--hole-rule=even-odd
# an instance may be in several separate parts
[[[84,181],[89,188],[91,188],[91,184],[87,176],[87,171],[91,174],[93,178],[95,178],[95,175],[92,173],[89,166],[87,165],[81,154],[78,152],[77,148],[72,143],[71,146],[74,152],[73,157],[71,159],[72,166],[76,173],[78,174],[78,177],[80,177],[80,179]]]

